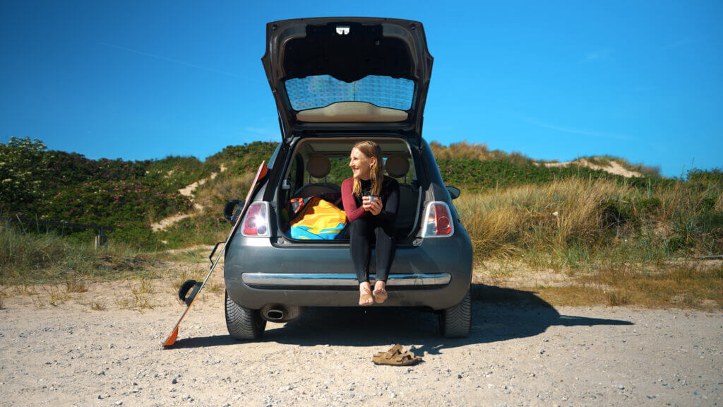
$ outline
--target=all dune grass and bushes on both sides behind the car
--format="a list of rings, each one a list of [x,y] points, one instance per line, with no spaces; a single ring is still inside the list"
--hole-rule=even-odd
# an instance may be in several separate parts
[[[12,138],[0,144],[1,277],[30,284],[152,274],[167,249],[223,240],[223,204],[245,195],[275,144],[228,146],[205,161],[122,161]],[[480,144],[431,146],[445,182],[462,190],[454,204],[477,282],[536,290],[551,303],[723,307],[720,169],[679,179],[610,156],[549,165]],[[640,176],[592,168],[611,161]],[[193,182],[193,199],[179,193]],[[153,229],[173,215],[184,217]],[[28,219],[114,230],[95,250],[95,230]]]

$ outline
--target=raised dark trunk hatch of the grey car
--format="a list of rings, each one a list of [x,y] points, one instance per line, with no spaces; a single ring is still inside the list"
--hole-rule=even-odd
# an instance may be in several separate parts
[[[371,17],[270,22],[262,62],[285,140],[304,130],[352,127],[421,138],[432,74],[421,22]]]

